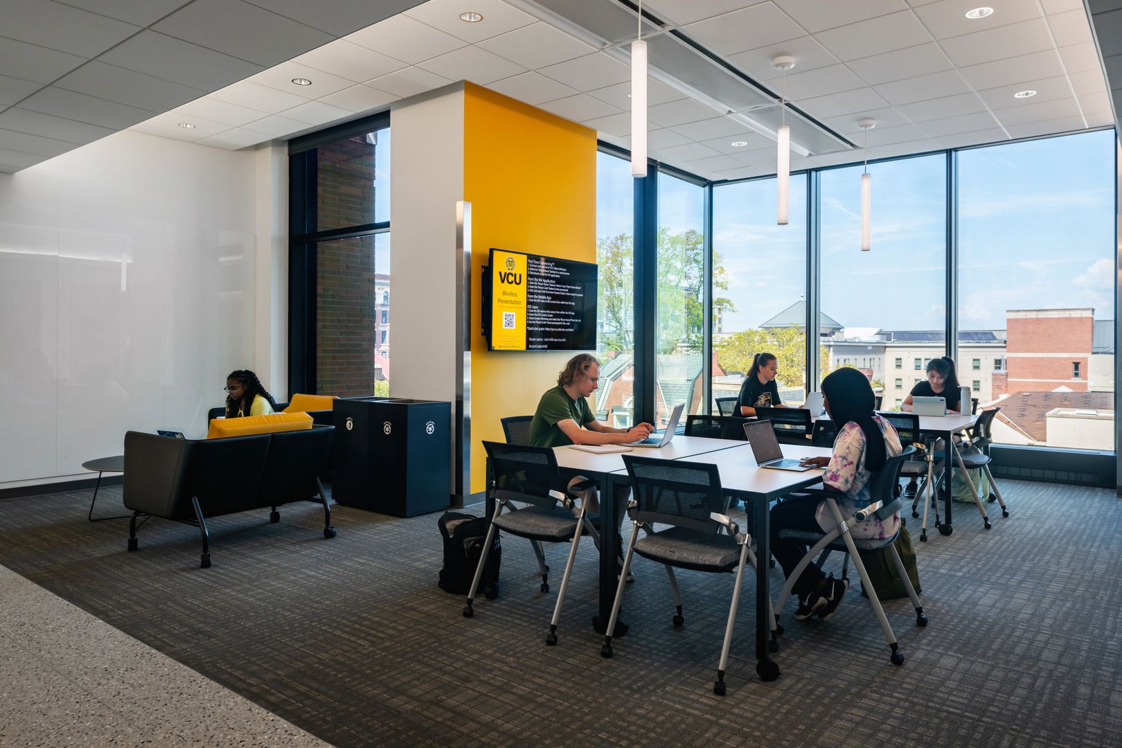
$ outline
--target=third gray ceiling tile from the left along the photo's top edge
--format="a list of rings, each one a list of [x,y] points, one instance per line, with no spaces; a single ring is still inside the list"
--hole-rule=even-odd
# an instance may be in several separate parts
[[[151,28],[266,67],[332,39],[242,0],[194,0]]]

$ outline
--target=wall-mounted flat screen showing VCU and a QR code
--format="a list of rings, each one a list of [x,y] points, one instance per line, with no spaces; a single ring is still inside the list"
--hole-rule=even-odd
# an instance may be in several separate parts
[[[595,264],[491,248],[482,289],[488,350],[596,350]]]

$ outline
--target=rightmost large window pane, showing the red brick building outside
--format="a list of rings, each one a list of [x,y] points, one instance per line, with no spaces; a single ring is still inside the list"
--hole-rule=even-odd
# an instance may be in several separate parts
[[[1115,135],[958,154],[958,378],[995,441],[1114,449]]]

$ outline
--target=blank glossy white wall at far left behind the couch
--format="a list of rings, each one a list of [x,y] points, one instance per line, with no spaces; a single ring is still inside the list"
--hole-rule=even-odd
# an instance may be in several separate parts
[[[0,174],[0,488],[88,475],[127,430],[197,435],[231,369],[273,361],[254,344],[256,170],[252,151],[123,131]]]

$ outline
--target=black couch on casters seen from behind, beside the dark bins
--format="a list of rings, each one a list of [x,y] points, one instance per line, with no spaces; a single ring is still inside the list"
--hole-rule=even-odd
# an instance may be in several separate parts
[[[130,431],[125,435],[125,506],[129,551],[137,550],[137,519],[163,517],[197,525],[202,567],[210,566],[206,517],[314,499],[323,502],[323,536],[335,536],[319,475],[327,470],[334,426],[311,430],[185,440]]]

